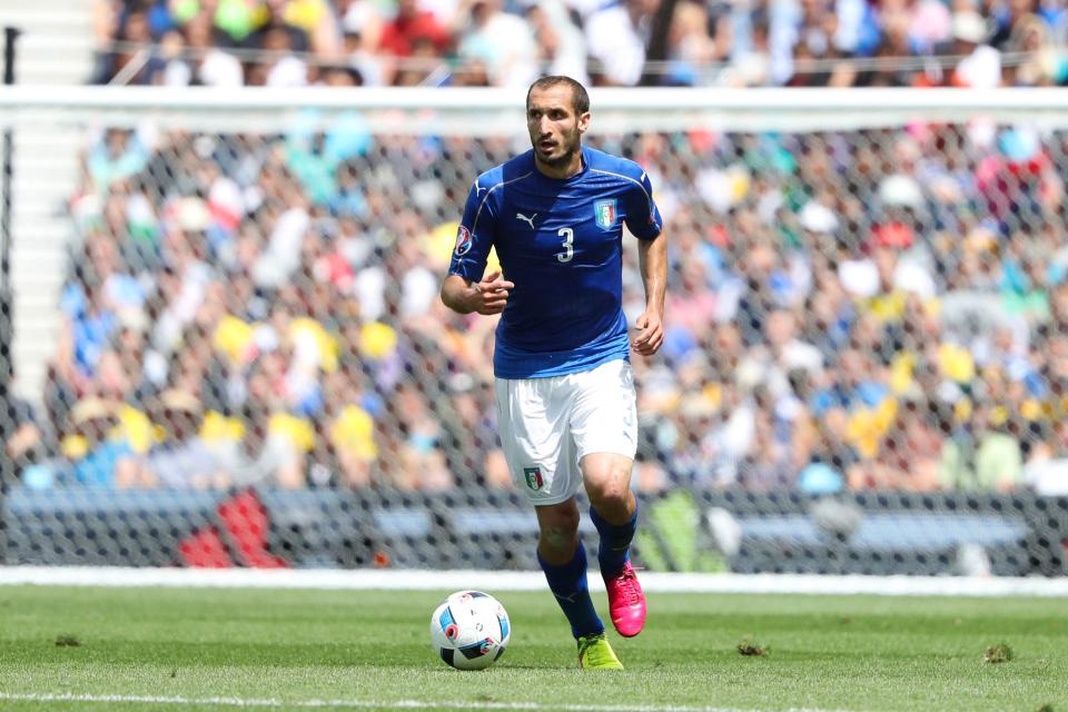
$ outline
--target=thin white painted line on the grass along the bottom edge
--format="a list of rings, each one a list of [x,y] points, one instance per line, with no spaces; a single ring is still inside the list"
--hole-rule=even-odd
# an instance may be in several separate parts
[[[542,704],[540,702],[426,702],[423,700],[396,700],[373,702],[369,700],[275,700],[255,698],[182,698],[121,694],[71,694],[71,693],[7,693],[0,700],[12,702],[89,702],[107,704],[174,704],[228,708],[352,708],[377,710],[565,710],[567,712],[758,712],[736,708],[705,708],[678,705],[626,705],[626,704]],[[817,708],[791,708],[784,712],[844,712]]]

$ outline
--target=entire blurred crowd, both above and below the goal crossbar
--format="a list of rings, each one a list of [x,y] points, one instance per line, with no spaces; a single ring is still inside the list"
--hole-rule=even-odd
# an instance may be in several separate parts
[[[659,8],[101,0],[101,38],[118,43],[97,79],[633,85]],[[656,82],[987,87],[1068,71],[1068,16],[1045,0],[673,8]],[[956,58],[945,72],[850,65],[941,55]],[[917,122],[591,142],[649,171],[671,239],[666,343],[634,359],[639,488],[1068,492],[1068,136]],[[471,181],[514,149],[370,135],[344,112],[283,135],[100,131],[70,202],[43,404],[12,413],[20,481],[510,487],[494,320],[437,291]]]

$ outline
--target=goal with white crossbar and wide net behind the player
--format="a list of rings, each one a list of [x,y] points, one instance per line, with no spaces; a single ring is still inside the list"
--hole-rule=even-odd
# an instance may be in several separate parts
[[[592,99],[670,240],[635,558],[1065,573],[1062,92]],[[494,319],[437,298],[472,182],[530,146],[522,93],[22,88],[0,125],[0,561],[536,567]]]

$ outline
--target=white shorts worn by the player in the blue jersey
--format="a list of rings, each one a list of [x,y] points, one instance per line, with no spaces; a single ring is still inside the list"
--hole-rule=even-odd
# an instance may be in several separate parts
[[[634,458],[634,372],[622,359],[548,378],[497,378],[501,444],[515,486],[535,505],[578,493],[590,453]]]

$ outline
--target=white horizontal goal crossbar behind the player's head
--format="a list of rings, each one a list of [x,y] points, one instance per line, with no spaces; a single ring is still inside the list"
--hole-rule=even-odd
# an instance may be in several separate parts
[[[150,118],[162,126],[248,128],[303,108],[366,112],[373,132],[522,136],[522,91],[504,89],[304,89],[191,87],[0,87],[0,126],[95,117],[108,123]],[[592,89],[594,134],[636,129],[812,131],[901,126],[911,120],[1064,126],[1061,89]],[[254,126],[260,126],[256,123]]]

